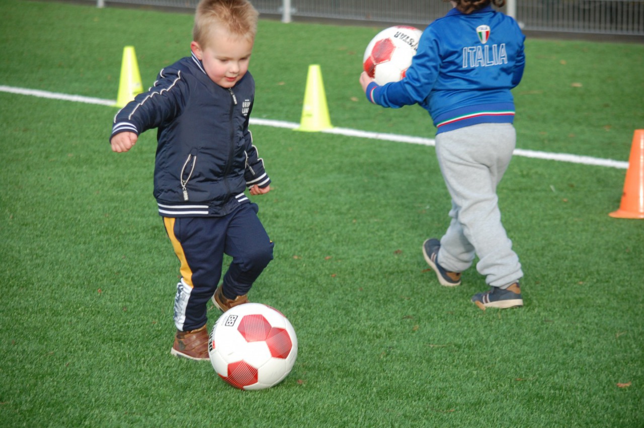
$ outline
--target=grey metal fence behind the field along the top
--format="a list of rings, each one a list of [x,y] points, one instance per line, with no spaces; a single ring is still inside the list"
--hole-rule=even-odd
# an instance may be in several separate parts
[[[111,3],[109,0],[97,4]],[[198,0],[117,0],[132,5],[194,9]],[[441,0],[251,0],[265,15],[426,25],[446,14]],[[644,0],[506,0],[503,12],[524,30],[644,36]],[[285,8],[286,5],[286,8]]]

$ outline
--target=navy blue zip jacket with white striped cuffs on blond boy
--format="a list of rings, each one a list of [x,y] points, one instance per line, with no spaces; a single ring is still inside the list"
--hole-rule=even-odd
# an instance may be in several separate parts
[[[149,91],[118,111],[111,136],[157,128],[161,216],[225,216],[249,201],[245,189],[269,185],[248,129],[254,95],[251,73],[222,88],[193,55],[161,70]]]

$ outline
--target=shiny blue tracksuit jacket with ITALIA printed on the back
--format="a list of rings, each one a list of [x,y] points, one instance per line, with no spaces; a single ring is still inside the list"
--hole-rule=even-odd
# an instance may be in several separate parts
[[[369,84],[366,96],[383,107],[419,104],[437,133],[480,123],[512,123],[510,92],[523,75],[524,40],[516,21],[486,6],[456,8],[422,33],[412,65],[400,82]]]

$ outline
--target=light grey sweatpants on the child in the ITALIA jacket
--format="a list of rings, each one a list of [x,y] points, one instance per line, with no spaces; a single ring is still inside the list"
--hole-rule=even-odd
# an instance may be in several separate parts
[[[511,124],[479,124],[436,136],[436,155],[452,205],[450,227],[440,239],[439,265],[463,272],[478,256],[478,272],[499,288],[523,277],[501,224],[497,198],[515,144]]]

